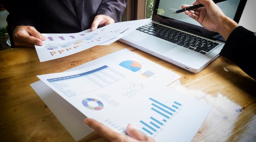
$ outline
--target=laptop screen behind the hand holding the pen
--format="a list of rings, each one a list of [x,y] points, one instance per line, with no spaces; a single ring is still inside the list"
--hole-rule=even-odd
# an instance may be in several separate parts
[[[234,19],[236,22],[239,22],[246,1],[247,0],[227,0],[220,2],[217,5],[226,16]],[[192,5],[194,2],[195,0],[155,0],[152,19],[153,21],[201,35],[203,37],[223,40],[218,33],[206,30],[198,22],[184,13],[172,13],[181,9],[181,5]]]

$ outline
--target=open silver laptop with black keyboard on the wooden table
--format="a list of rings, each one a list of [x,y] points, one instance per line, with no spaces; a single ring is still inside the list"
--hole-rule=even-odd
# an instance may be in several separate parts
[[[217,5],[237,23],[247,0],[227,0]],[[119,41],[198,73],[219,56],[224,46],[220,34],[203,28],[184,13],[174,14],[181,5],[195,0],[155,0],[148,23],[122,37]]]

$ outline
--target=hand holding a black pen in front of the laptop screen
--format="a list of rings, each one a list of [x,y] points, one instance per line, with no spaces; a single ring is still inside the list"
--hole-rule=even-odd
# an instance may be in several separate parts
[[[238,26],[231,18],[225,16],[222,10],[212,0],[196,0],[193,5],[202,4],[204,7],[185,11],[185,14],[196,20],[206,29],[219,32],[226,40],[230,33]],[[182,5],[181,8],[189,5]]]

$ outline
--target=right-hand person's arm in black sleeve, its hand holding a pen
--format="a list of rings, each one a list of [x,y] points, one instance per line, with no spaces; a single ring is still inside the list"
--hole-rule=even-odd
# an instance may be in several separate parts
[[[220,33],[226,40],[220,55],[235,62],[247,75],[256,79],[256,69],[251,63],[256,62],[256,37],[252,31],[239,26],[234,20],[224,15],[212,0],[197,0],[193,5],[204,7],[185,11],[185,14],[199,22],[206,29]],[[183,5],[182,8],[188,5]]]

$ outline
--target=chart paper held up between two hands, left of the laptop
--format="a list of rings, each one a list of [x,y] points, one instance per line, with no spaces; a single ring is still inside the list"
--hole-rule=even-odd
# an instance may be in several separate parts
[[[97,45],[109,45],[149,19],[113,23],[95,31],[90,29],[77,33],[42,33],[47,40],[43,46],[35,45],[40,62],[65,57]]]

